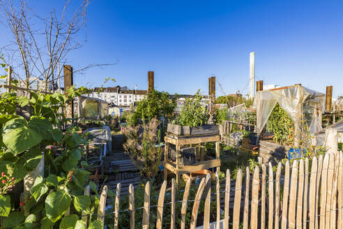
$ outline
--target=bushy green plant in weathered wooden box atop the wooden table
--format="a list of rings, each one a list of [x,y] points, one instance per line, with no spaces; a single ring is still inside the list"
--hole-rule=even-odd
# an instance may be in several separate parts
[[[218,126],[207,124],[208,112],[201,104],[199,90],[192,98],[186,98],[180,114],[168,124],[167,132],[176,135],[219,133]]]

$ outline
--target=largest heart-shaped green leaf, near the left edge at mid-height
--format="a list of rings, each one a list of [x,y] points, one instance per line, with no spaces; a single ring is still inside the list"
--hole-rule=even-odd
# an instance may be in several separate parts
[[[42,135],[29,128],[25,119],[16,118],[3,126],[3,143],[15,155],[24,152],[42,141]]]

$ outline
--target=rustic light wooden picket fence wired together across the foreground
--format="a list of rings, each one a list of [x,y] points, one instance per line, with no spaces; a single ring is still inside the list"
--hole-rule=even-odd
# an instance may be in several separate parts
[[[309,160],[300,159],[289,162],[284,166],[282,172],[281,163],[277,166],[277,172],[273,167],[261,165],[254,168],[250,175],[249,168],[246,169],[245,180],[242,171],[238,170],[236,186],[230,189],[230,172],[226,172],[226,183],[224,191],[220,191],[218,174],[215,175],[215,199],[217,208],[217,223],[211,228],[343,228],[343,153],[321,155],[314,157],[309,170]],[[268,169],[268,171],[267,171]],[[268,176],[267,176],[268,172]],[[252,179],[250,178],[252,176]],[[245,188],[243,189],[243,182]],[[183,200],[176,200],[176,183],[172,179],[171,189],[171,216],[170,228],[175,228],[175,219],[181,219],[181,228],[185,228],[185,216],[191,211],[190,228],[197,226],[198,210],[201,201],[204,201],[204,228],[210,228],[210,207],[211,207],[211,177],[201,179],[195,200],[188,200],[190,193],[190,179],[185,185]],[[145,185],[144,207],[142,226],[149,228],[149,215],[156,211],[157,221],[155,228],[162,228],[163,209],[165,205],[167,182],[163,182],[157,206],[151,206],[150,182]],[[251,189],[251,190],[250,190]],[[105,205],[107,198],[107,186],[104,186],[100,196],[100,207],[98,219],[104,223]],[[234,192],[234,209],[229,209],[230,192]],[[224,193],[224,223],[220,226],[220,193]],[[251,194],[250,194],[251,193]],[[114,204],[114,228],[121,228],[119,209],[121,184],[116,189]],[[282,194],[282,195],[281,195]],[[282,196],[282,197],[281,197]],[[244,198],[243,209],[241,209],[241,198]],[[194,202],[192,209],[188,208],[188,202]],[[135,228],[135,196],[132,184],[129,189],[129,202],[126,212],[130,212],[130,228]],[[182,202],[181,212],[175,212],[176,202]],[[156,207],[156,208],[155,208]],[[231,215],[229,213],[231,212]],[[108,214],[108,213],[107,213]],[[243,216],[242,216],[243,214]],[[200,217],[200,216],[199,216]],[[86,221],[85,221],[86,222]]]

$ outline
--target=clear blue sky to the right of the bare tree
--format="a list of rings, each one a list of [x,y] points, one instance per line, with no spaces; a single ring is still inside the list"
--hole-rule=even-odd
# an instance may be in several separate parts
[[[57,2],[29,4],[39,12]],[[343,95],[342,0],[94,0],[86,34],[69,64],[119,62],[76,75],[78,86],[114,77],[116,84],[146,89],[147,72],[155,71],[155,87],[172,94],[207,94],[211,74],[225,93],[247,94],[254,51],[256,80],[264,84],[301,83],[322,92],[333,85],[334,97]]]

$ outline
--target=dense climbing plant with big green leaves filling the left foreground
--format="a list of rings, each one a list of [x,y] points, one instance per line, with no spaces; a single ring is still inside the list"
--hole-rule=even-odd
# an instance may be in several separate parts
[[[74,126],[65,134],[59,128],[66,119],[58,111],[82,91],[71,88],[66,95],[31,92],[31,98],[8,93],[1,96],[0,216],[6,217],[3,228],[80,227],[82,212],[90,214],[91,227],[102,228],[93,216],[98,196],[83,195],[89,177],[82,168],[82,145],[86,141],[75,133]],[[25,108],[31,115],[24,118],[15,114],[17,108]],[[11,200],[17,183],[37,168],[43,155],[44,176],[36,177],[21,202]],[[65,216],[67,209],[70,215]]]

